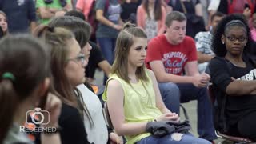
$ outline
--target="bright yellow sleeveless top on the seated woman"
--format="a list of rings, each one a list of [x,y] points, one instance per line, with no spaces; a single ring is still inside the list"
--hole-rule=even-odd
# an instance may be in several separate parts
[[[148,78],[148,82],[139,80],[136,84],[129,84],[119,78],[116,74],[110,75],[108,81],[115,79],[122,85],[122,89],[124,91],[124,114],[127,123],[149,122],[162,115],[162,112],[158,110],[156,106],[153,82],[149,76]],[[107,99],[106,91],[107,90],[104,91],[102,97],[104,101]],[[125,137],[127,144],[133,144],[148,136],[150,136],[150,133],[129,135]]]

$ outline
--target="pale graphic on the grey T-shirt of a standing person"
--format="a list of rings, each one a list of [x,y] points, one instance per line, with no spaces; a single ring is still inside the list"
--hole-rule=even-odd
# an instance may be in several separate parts
[[[121,14],[121,6],[118,5],[110,5],[107,12],[109,14],[109,20],[112,22],[117,22],[119,19],[119,15]]]

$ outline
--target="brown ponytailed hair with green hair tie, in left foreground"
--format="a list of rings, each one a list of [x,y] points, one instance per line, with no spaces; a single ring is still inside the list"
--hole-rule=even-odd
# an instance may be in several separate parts
[[[49,53],[38,39],[26,34],[7,35],[0,41],[0,143],[14,121],[20,102],[50,74]],[[3,74],[9,74],[10,78]],[[11,75],[14,78],[11,78]],[[32,106],[33,104],[31,104]]]

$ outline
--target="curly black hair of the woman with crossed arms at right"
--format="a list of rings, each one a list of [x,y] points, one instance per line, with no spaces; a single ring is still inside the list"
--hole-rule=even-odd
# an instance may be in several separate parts
[[[216,30],[214,31],[211,48],[218,57],[225,57],[226,55],[226,46],[222,44],[222,34],[225,33],[224,29],[226,24],[232,20],[240,20],[246,25],[246,35],[248,42],[244,48],[244,54],[250,52],[250,47],[253,41],[250,34],[250,27],[247,24],[246,18],[242,14],[230,14],[222,18],[222,20],[218,23]]]

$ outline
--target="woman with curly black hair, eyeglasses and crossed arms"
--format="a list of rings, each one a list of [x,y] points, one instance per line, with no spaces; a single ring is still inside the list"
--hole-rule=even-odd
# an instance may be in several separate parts
[[[217,102],[225,102],[226,128],[233,136],[256,141],[256,65],[249,54],[252,39],[242,15],[226,16],[219,22],[212,48],[210,76]],[[224,131],[226,130],[226,131]]]

